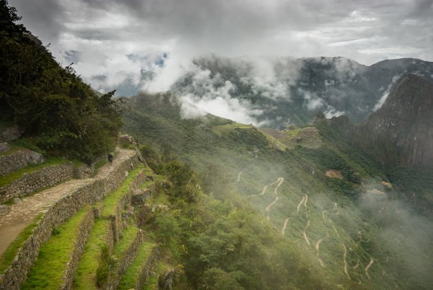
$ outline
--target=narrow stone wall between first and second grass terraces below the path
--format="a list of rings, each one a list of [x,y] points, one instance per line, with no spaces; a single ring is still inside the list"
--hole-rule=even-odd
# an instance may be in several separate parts
[[[93,208],[89,207],[80,223],[80,226],[78,227],[79,232],[76,241],[74,242],[74,251],[72,252],[69,262],[66,265],[65,276],[62,278],[64,282],[61,289],[72,289],[78,262],[80,261],[82,252],[84,252],[84,248],[87,243],[87,239],[89,238],[94,221]]]

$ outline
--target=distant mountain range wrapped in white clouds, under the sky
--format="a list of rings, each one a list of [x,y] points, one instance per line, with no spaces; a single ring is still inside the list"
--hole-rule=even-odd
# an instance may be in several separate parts
[[[212,54],[193,63],[194,69],[170,89],[184,102],[238,122],[277,129],[305,125],[318,110],[327,118],[345,114],[359,123],[379,107],[401,76],[417,74],[433,80],[433,63],[414,58],[366,66],[343,57]]]

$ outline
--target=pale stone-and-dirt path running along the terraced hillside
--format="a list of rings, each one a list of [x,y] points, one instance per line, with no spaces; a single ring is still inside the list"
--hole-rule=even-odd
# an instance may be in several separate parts
[[[102,166],[96,177],[71,179],[30,197],[25,197],[19,203],[11,205],[8,214],[0,216],[0,256],[16,236],[34,221],[39,212],[43,212],[49,205],[74,192],[77,188],[107,177],[119,164],[135,155],[135,150],[118,148],[118,151],[113,165]]]

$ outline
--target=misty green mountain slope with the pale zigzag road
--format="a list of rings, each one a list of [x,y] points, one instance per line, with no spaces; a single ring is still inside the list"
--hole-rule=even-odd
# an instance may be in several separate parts
[[[404,193],[414,179],[395,178],[403,171],[346,142],[337,127],[350,131],[347,118],[322,118],[315,129],[260,132],[212,115],[181,118],[181,102],[170,93],[126,102],[125,131],[159,146],[168,159],[174,151],[201,172],[206,192],[273,225],[277,244],[302,253],[325,289],[428,289],[432,221],[428,210],[408,206],[419,199]],[[428,175],[416,176],[428,208]]]

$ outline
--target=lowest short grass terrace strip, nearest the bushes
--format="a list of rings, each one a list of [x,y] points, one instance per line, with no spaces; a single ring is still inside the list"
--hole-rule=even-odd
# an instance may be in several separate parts
[[[135,282],[140,275],[140,271],[142,267],[146,264],[148,256],[151,254],[154,247],[155,243],[147,241],[143,242],[142,245],[140,245],[137,256],[135,256],[135,259],[133,260],[131,266],[126,269],[125,274],[120,280],[118,289],[127,290],[135,287]]]

